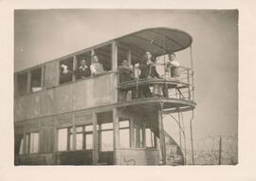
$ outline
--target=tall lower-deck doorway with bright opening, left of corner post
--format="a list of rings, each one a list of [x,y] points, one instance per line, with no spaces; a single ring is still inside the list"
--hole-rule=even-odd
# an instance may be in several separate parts
[[[114,164],[114,130],[112,111],[97,114],[99,164]]]

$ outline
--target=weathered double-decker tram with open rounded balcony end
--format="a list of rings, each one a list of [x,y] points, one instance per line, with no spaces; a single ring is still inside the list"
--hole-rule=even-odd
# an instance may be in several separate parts
[[[167,74],[174,71],[167,55],[192,52],[191,47],[187,32],[152,27],[15,72],[14,164],[186,164],[184,149],[165,131],[163,115],[195,108],[192,56],[177,77]],[[150,71],[157,66],[160,77],[120,82],[122,61],[136,75],[145,52],[158,60]],[[78,79],[74,72],[82,60],[90,67],[95,55],[101,74]],[[164,87],[165,96],[143,96],[141,87],[152,92],[155,85]]]

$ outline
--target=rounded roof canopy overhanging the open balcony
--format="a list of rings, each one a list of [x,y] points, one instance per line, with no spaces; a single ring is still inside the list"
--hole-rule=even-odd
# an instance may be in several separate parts
[[[185,31],[168,28],[146,28],[116,39],[137,53],[152,52],[155,56],[176,52],[192,45],[192,36]]]

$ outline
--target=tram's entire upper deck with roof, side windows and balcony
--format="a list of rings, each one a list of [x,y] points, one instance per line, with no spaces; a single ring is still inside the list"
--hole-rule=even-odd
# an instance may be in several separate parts
[[[163,104],[165,111],[191,110],[193,102],[192,67],[181,67],[178,78],[161,77],[136,79],[119,82],[119,65],[127,60],[129,65],[140,63],[146,51],[155,58],[164,59],[165,55],[183,50],[192,45],[192,37],[181,30],[166,27],[143,29],[101,45],[95,45],[63,58],[43,63],[14,75],[14,113],[15,120],[41,118],[85,109],[104,109],[123,107],[147,110]],[[90,67],[91,57],[97,55],[103,72],[97,76],[78,79],[74,73],[83,59]],[[182,61],[180,61],[182,63]],[[63,65],[67,73],[63,73]],[[161,68],[160,68],[161,69]],[[164,69],[164,68],[163,68]],[[165,72],[163,72],[165,74]],[[148,84],[167,87],[168,97],[131,99],[133,88]],[[125,99],[119,99],[121,92],[127,91]],[[137,92],[137,91],[136,91]]]

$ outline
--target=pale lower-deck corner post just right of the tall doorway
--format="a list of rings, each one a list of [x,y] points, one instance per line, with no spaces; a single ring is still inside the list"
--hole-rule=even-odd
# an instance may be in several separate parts
[[[114,164],[119,165],[119,116],[117,108],[113,109],[114,123]]]

